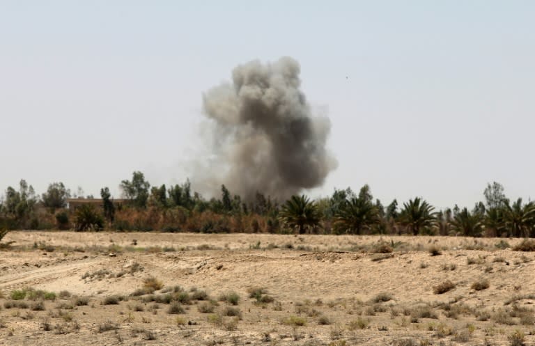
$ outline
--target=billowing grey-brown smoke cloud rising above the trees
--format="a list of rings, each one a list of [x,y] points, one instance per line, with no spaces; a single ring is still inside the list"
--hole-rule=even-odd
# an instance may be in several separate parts
[[[293,58],[251,61],[233,70],[232,84],[203,95],[214,144],[205,186],[282,200],[323,184],[336,167],[325,149],[330,122],[312,115],[299,74]]]

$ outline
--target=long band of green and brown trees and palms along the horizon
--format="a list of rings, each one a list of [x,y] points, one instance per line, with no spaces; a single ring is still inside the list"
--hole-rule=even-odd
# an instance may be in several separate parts
[[[367,184],[358,193],[335,189],[325,198],[300,195],[282,203],[260,191],[246,202],[224,185],[219,198],[206,199],[192,191],[189,180],[151,187],[139,171],[119,187],[127,203],[115,203],[109,188],[102,187],[101,205],[82,204],[72,211],[65,209],[72,194],[62,182],[49,184],[38,196],[21,180],[1,200],[0,229],[535,237],[535,203],[510,200],[497,182],[487,184],[484,200],[471,210],[457,205],[435,210],[420,197],[382,205]]]

